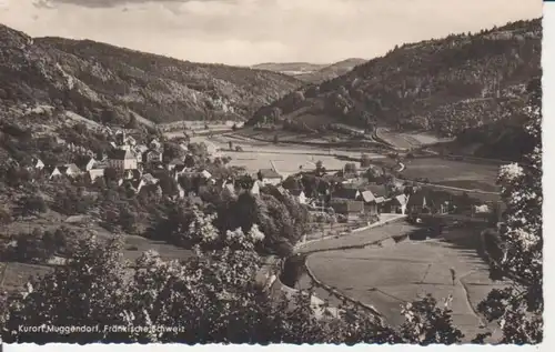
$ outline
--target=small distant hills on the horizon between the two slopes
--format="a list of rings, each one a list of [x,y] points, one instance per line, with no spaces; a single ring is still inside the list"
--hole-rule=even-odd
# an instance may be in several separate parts
[[[292,76],[306,83],[319,83],[351,71],[365,59],[346,59],[332,64],[309,62],[268,62],[253,66],[253,69],[268,70]]]

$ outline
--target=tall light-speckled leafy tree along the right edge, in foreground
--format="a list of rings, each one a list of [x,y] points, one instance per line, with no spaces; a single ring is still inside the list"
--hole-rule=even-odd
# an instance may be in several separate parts
[[[501,231],[504,255],[492,276],[511,278],[511,285],[493,290],[482,302],[481,311],[497,320],[503,330],[502,343],[541,343],[543,341],[543,233],[542,233],[542,110],[541,82],[528,84],[525,113],[526,132],[535,148],[524,164],[512,163],[500,170],[498,183],[507,205],[505,230]]]

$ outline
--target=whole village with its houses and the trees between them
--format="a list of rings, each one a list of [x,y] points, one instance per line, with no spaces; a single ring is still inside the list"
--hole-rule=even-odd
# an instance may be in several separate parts
[[[33,169],[48,180],[79,179],[89,184],[111,180],[134,194],[171,193],[171,199],[196,197],[209,185],[230,194],[249,192],[253,195],[260,194],[262,187],[272,185],[306,205],[314,219],[349,223],[351,228],[380,222],[382,214],[410,215],[412,219],[418,218],[420,214],[451,213],[477,217],[493,223],[502,215],[500,202],[471,199],[465,192],[457,194],[422,182],[395,178],[400,175],[398,171],[405,169],[398,154],[395,154],[394,162],[385,164],[381,159],[372,159],[369,154],[361,153],[360,161],[349,161],[341,170],[330,171],[322,161],[310,162],[309,160],[315,160],[314,155],[306,154],[309,162],[300,164],[296,173],[281,173],[271,160],[269,168],[249,173],[236,162],[235,167],[229,165],[232,158],[226,157],[226,152],[241,153],[242,148],[236,143],[233,148],[232,142],[229,142],[229,148],[216,147],[210,142],[210,130],[204,137],[195,139],[200,143],[190,142],[189,135],[184,133],[184,139],[181,132],[167,132],[139,143],[133,138],[133,130],[103,129],[112,140],[107,153],[94,155],[81,147],[64,145],[74,154],[75,162],[52,165],[33,158],[32,165],[28,169]],[[180,150],[173,154],[182,155],[181,158],[164,150],[167,141],[178,145]],[[65,141],[57,138],[57,143],[65,144]],[[224,168],[228,164],[228,169],[233,169],[233,172],[224,177],[212,175],[206,168],[195,163],[193,152],[199,145],[204,149],[205,155],[202,158]],[[168,192],[164,189],[167,183],[160,182],[161,178],[174,180],[176,192]],[[192,189],[180,182],[182,178],[195,178],[199,181]]]

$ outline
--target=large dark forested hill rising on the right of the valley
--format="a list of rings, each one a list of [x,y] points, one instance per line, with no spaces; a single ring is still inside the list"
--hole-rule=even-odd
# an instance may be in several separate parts
[[[541,74],[541,41],[536,19],[403,44],[341,77],[303,86],[249,123],[321,115],[361,128],[457,135],[518,111],[527,82]]]

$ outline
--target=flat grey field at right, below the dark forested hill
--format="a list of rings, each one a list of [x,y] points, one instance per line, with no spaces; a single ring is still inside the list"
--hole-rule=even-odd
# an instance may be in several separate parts
[[[421,158],[405,161],[403,178],[428,179],[431,183],[463,189],[496,191],[498,165],[454,161],[442,158]]]

